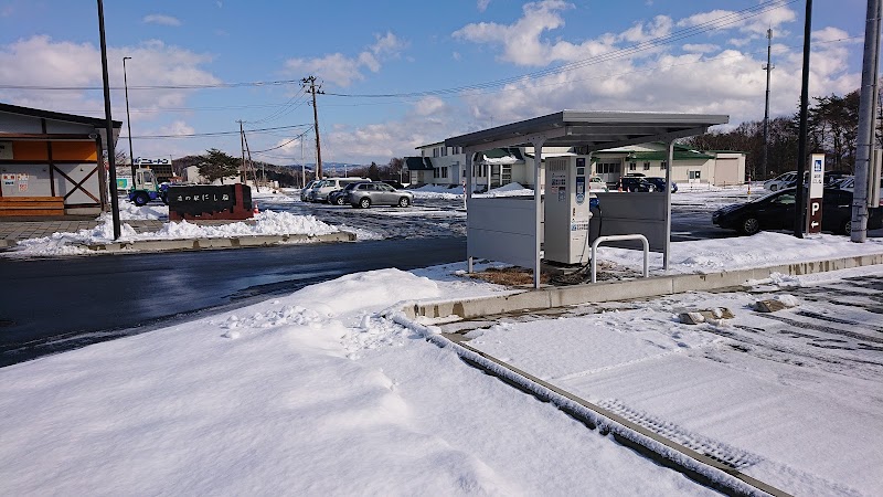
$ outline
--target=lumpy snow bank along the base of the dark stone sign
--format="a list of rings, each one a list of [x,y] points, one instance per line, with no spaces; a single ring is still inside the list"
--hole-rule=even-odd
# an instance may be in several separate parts
[[[53,256],[81,255],[92,251],[76,245],[93,245],[114,242],[114,224],[109,214],[99,218],[100,223],[92,230],[76,233],[53,233],[51,236],[19,242],[7,255],[11,256]],[[159,231],[137,233],[131,225],[120,226],[117,242],[145,240],[190,240],[226,239],[232,236],[307,234],[320,235],[337,233],[340,230],[317,220],[312,215],[295,215],[288,212],[264,211],[251,221],[240,221],[219,225],[199,225],[187,221],[168,222]]]

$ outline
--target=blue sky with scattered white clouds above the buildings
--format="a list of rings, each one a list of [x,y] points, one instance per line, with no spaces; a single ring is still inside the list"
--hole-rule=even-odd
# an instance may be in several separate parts
[[[136,157],[238,156],[238,134],[224,134],[242,119],[249,148],[267,150],[255,159],[300,162],[302,148],[312,162],[312,108],[298,84],[309,75],[326,92],[326,161],[386,163],[563,108],[760,119],[768,28],[772,114],[792,113],[800,94],[804,1],[107,0],[104,10],[124,121],[123,57],[132,57]],[[815,2],[812,95],[858,88],[865,10],[865,0]],[[103,116],[100,89],[88,89],[102,84],[96,2],[3,0],[0,33],[0,102]],[[230,86],[280,81],[290,83]],[[125,150],[126,136],[124,124]]]

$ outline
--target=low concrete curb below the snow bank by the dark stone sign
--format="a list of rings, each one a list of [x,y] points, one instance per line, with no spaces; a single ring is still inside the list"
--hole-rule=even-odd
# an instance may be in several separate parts
[[[322,235],[255,235],[234,236],[230,239],[193,239],[193,240],[139,240],[134,242],[97,243],[79,245],[94,252],[169,252],[200,251],[215,248],[241,248],[251,246],[272,246],[283,243],[333,243],[354,242],[355,233],[341,231]]]

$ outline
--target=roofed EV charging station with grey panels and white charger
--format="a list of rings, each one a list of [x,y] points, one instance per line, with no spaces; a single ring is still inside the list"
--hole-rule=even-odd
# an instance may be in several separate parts
[[[466,171],[472,170],[472,157],[480,151],[504,147],[533,147],[535,151],[532,197],[472,198],[472,176],[466,176],[468,271],[472,272],[476,257],[533,268],[533,286],[539,288],[543,261],[588,264],[595,218],[587,182],[591,165],[581,162],[578,156],[546,157],[545,166],[551,169],[543,181],[543,147],[578,148],[591,157],[597,150],[663,141],[668,144],[672,163],[675,139],[702,135],[709,127],[728,121],[730,116],[725,115],[562,110],[446,139],[446,147],[460,147],[466,154]],[[666,175],[669,181],[670,171],[668,168]],[[605,212],[600,216],[604,220],[600,234],[617,240],[634,239],[641,235],[645,226],[652,228],[660,234],[653,250],[662,252],[663,267],[668,269],[671,190],[618,195],[621,201],[611,197],[610,204],[619,204],[621,209],[604,207],[607,200],[598,195],[604,211],[614,214],[608,216]],[[638,198],[651,204],[653,212],[638,212],[636,205],[643,203]],[[626,233],[616,232],[616,226]],[[643,241],[647,247],[647,239]],[[655,245],[652,240],[649,245]],[[646,256],[645,253],[645,261]]]

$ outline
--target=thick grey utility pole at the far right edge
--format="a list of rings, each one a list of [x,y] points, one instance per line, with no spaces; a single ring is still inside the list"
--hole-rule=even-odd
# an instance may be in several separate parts
[[[873,158],[876,129],[876,83],[880,64],[881,0],[868,0],[864,25],[864,56],[862,59],[862,87],[859,97],[859,130],[855,150],[855,186],[852,193],[852,233],[850,240],[868,240],[868,175]]]

